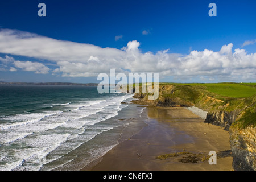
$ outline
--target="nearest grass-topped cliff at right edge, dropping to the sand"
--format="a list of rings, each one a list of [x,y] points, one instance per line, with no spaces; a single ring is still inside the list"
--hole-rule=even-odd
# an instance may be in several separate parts
[[[205,122],[229,130],[233,169],[256,170],[256,96],[234,99],[210,111]]]

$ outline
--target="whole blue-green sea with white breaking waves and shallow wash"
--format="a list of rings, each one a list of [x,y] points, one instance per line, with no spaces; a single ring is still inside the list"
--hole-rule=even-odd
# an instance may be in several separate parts
[[[0,170],[79,170],[118,144],[143,107],[96,86],[0,86]]]

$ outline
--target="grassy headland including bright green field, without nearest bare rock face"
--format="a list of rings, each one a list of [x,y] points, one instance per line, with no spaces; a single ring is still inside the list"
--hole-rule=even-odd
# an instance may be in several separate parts
[[[148,94],[135,94],[137,103],[155,106],[196,106],[209,113],[213,119],[227,119],[230,125],[245,128],[256,126],[256,84],[159,84],[157,100],[147,100]],[[220,114],[219,116],[216,114]],[[227,116],[232,113],[233,116]],[[232,118],[233,117],[233,118]],[[228,127],[230,126],[228,125]]]

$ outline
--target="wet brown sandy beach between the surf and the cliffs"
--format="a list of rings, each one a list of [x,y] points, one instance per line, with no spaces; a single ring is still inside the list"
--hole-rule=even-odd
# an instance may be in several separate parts
[[[218,154],[230,151],[228,131],[203,121],[181,107],[147,107],[141,119],[126,127],[117,146],[82,170],[233,170],[231,155],[217,158],[216,165],[210,165],[208,159],[202,160],[209,151]],[[171,155],[160,159],[164,154]]]

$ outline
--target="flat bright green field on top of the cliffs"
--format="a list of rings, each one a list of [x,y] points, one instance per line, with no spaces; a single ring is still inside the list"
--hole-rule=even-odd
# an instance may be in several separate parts
[[[221,96],[244,98],[256,94],[256,83],[177,84],[202,86],[205,90]]]

